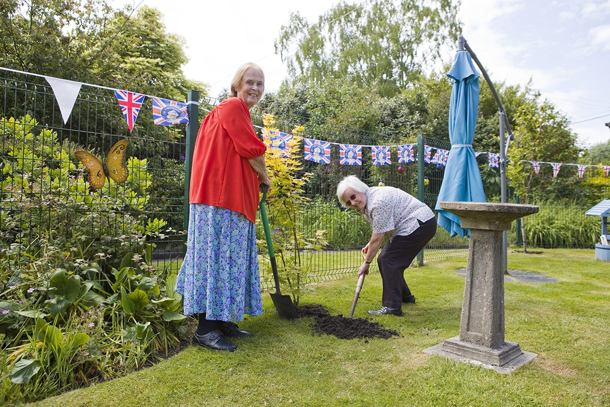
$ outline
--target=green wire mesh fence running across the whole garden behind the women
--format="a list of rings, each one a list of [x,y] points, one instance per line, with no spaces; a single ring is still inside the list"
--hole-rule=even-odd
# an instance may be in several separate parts
[[[146,99],[130,132],[113,92],[88,85],[82,86],[69,120],[63,123],[53,90],[45,79],[0,72],[2,256],[43,258],[49,247],[64,247],[71,251],[64,256],[107,258],[133,255],[144,243],[153,243],[150,254],[154,267],[175,273],[181,264],[185,239],[185,125],[157,126],[152,120],[151,102]],[[199,122],[218,102],[207,96],[200,98]],[[417,144],[417,135],[389,136],[309,117],[267,112],[260,107],[251,111],[255,126],[263,126],[265,113],[275,113],[275,124],[282,132],[289,133],[296,125],[303,125],[303,137],[333,143],[330,164],[303,160],[303,173],[310,174],[304,186],[309,204],[299,214],[299,230],[305,236],[325,230],[328,239],[323,251],[303,251],[304,262],[311,270],[310,281],[353,273],[361,264],[359,250],[370,238],[370,226],[364,217],[339,205],[335,192],[343,177],[357,175],[370,186],[400,188],[423,196],[423,201],[434,208],[445,167],[397,162],[396,146]],[[129,142],[129,178],[123,184],[106,179],[101,189],[91,189],[74,152],[85,150],[104,162],[120,140]],[[373,165],[370,149],[365,147],[362,165],[340,165],[336,143],[393,146],[392,163]],[[425,144],[434,149],[450,149],[449,143],[442,140],[425,139]],[[477,160],[487,200],[499,201],[498,169],[489,167],[486,154]],[[531,174],[533,170],[528,165],[524,164],[524,171]],[[583,178],[575,167],[562,171],[556,178],[550,168],[542,168],[536,175],[541,192],[530,203],[539,204],[540,212],[525,220],[526,241],[543,248],[592,248],[599,238],[600,220],[586,217],[584,212],[607,198],[608,178],[597,167],[589,168]],[[418,191],[421,177],[424,190]],[[509,191],[509,202],[514,201],[514,194]],[[269,215],[272,218],[274,214]],[[262,231],[259,236],[262,239]],[[509,243],[516,242],[519,236],[523,235],[515,224],[509,232]],[[426,247],[423,261],[465,256],[467,247],[467,239],[451,238],[439,228]],[[266,273],[262,275],[262,285],[271,287]]]

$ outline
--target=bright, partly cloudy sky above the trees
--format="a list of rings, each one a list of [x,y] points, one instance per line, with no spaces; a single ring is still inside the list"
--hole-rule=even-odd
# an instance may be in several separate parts
[[[159,9],[167,31],[187,41],[186,76],[218,96],[248,61],[265,71],[266,92],[278,90],[286,69],[274,41],[290,12],[311,23],[337,1],[182,0],[176,7],[167,0],[115,0],[124,4]],[[462,0],[458,18],[492,81],[523,87],[531,80],[569,117],[581,146],[610,140],[610,0]],[[444,62],[456,48],[443,52]]]

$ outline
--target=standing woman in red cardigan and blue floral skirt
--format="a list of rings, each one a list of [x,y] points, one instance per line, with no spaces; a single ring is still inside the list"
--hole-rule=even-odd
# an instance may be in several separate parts
[[[267,147],[256,135],[249,109],[265,88],[260,67],[246,63],[231,82],[231,97],[199,128],[190,184],[187,253],[176,292],[184,314],[198,314],[193,344],[234,351],[227,337],[249,337],[235,322],[262,314],[257,261],[259,184],[271,186]]]

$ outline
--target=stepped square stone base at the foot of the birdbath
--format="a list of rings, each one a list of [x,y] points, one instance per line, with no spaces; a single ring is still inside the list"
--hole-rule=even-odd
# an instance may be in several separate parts
[[[506,341],[500,347],[489,348],[464,342],[459,340],[459,336],[446,339],[423,352],[476,364],[499,373],[511,373],[538,356],[536,353],[522,351],[515,342]]]

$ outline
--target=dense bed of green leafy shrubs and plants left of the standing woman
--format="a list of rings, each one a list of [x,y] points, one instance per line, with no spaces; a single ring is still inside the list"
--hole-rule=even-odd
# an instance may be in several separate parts
[[[124,375],[186,334],[172,276],[151,267],[151,176],[93,192],[57,134],[0,121],[0,403]],[[166,280],[170,284],[166,284]]]

